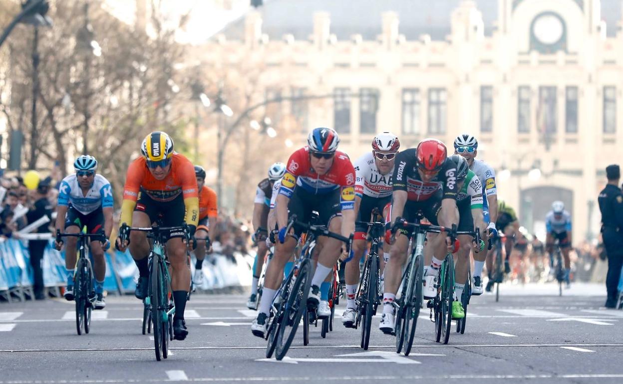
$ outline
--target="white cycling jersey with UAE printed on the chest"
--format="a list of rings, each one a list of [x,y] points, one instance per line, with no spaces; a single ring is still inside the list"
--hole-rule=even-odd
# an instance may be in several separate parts
[[[379,173],[379,169],[376,167],[376,162],[374,161],[374,155],[372,152],[368,152],[357,159],[354,163],[354,171],[356,174],[354,193],[357,196],[391,196],[391,182],[394,169],[391,169],[391,171],[389,171],[386,175],[381,175]]]

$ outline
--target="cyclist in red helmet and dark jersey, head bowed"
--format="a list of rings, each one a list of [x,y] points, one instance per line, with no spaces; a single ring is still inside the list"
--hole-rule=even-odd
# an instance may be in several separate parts
[[[444,143],[437,139],[424,139],[417,148],[402,151],[396,157],[394,167],[393,192],[391,205],[392,224],[406,220],[412,221],[417,212],[432,223],[451,227],[459,222],[457,217],[457,164],[447,157]],[[385,268],[385,289],[383,293],[383,316],[381,329],[386,334],[394,332],[394,306],[396,292],[401,283],[402,266],[406,261],[409,237],[406,230],[396,232],[395,242],[391,246],[390,258]],[[391,233],[386,231],[386,243],[390,243]],[[445,241],[444,241],[445,240]],[[434,255],[447,255],[454,251],[454,244],[444,236],[429,236],[429,246]],[[426,253],[424,297],[432,298],[437,294],[437,273],[444,260]]]

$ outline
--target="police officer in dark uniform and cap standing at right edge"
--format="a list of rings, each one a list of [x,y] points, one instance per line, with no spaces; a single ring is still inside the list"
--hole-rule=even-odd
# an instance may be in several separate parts
[[[623,266],[623,193],[619,189],[621,169],[616,164],[606,167],[608,184],[599,194],[601,210],[601,233],[608,255],[606,307],[614,308],[617,302],[617,286]]]

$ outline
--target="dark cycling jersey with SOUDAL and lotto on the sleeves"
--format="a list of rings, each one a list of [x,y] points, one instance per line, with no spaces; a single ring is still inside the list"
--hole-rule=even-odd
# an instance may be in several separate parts
[[[445,159],[437,176],[430,182],[423,182],[417,171],[417,149],[411,148],[399,152],[394,167],[393,190],[406,190],[408,199],[424,201],[430,199],[437,190],[442,190],[442,199],[456,199],[457,197],[457,164],[449,157]]]

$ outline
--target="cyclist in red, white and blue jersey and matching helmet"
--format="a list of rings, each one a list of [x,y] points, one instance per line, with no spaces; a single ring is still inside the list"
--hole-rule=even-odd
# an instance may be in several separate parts
[[[302,233],[293,228],[286,233],[288,215],[297,215],[298,220],[308,221],[313,210],[319,213],[320,222],[331,232],[340,231],[344,236],[354,232],[354,179],[355,173],[348,155],[337,151],[340,139],[330,128],[315,128],[307,138],[307,146],[294,152],[287,162],[287,171],[282,177],[281,188],[276,199],[278,241],[275,254],[264,277],[264,293],[260,301],[259,314],[251,325],[254,335],[264,337],[270,306],[283,277],[283,267]],[[289,212],[288,212],[289,211]],[[316,242],[318,263],[312,277],[312,289],[307,298],[308,305],[318,306],[318,317],[328,317],[331,310],[325,298],[320,297],[320,285],[333,271],[340,257],[341,242],[322,236]],[[318,305],[320,304],[320,305]]]

